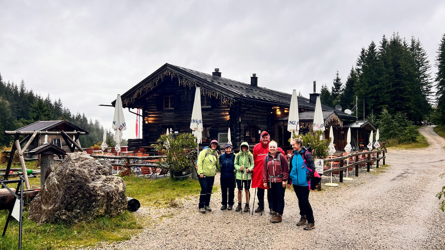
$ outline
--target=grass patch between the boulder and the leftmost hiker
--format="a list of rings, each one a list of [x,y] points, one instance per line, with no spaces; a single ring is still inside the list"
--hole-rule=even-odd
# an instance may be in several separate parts
[[[193,179],[183,181],[175,181],[171,178],[151,180],[135,176],[124,176],[123,179],[127,184],[126,195],[139,200],[143,207],[177,208],[180,206],[176,201],[178,198],[201,192],[199,182]],[[212,193],[216,191],[218,188],[214,186]]]

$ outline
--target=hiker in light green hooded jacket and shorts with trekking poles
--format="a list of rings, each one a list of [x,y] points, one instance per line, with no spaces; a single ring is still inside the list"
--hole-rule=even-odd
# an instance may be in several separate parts
[[[238,207],[235,211],[241,210],[241,198],[243,195],[243,186],[246,190],[246,206],[244,212],[249,212],[250,201],[250,183],[252,182],[252,169],[255,167],[253,155],[249,151],[249,144],[247,142],[241,143],[239,153],[235,156],[236,169],[236,185],[238,186]]]

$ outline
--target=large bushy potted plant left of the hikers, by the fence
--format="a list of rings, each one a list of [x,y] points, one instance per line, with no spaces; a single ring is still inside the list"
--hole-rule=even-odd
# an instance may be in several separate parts
[[[191,174],[194,149],[197,144],[191,133],[163,134],[157,140],[158,144],[152,144],[156,150],[162,151],[167,158],[159,161],[160,168],[168,168],[170,176],[177,180],[185,180]]]

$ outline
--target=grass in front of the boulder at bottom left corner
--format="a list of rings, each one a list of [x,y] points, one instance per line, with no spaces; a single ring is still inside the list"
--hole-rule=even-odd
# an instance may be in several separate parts
[[[0,225],[6,223],[7,210],[0,211]],[[22,229],[22,248],[27,250],[73,249],[94,246],[97,242],[111,243],[129,240],[142,226],[134,215],[125,211],[115,218],[99,217],[89,222],[75,225],[36,224],[24,212]],[[1,250],[18,248],[19,223],[15,219],[9,222],[6,235],[0,238]],[[136,230],[136,232],[135,232]]]

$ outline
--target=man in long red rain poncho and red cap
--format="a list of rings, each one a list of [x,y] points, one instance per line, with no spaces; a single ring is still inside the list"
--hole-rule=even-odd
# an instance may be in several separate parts
[[[263,185],[263,164],[264,158],[269,152],[269,142],[269,134],[266,131],[263,131],[261,133],[261,142],[255,145],[253,149],[255,167],[253,169],[252,175],[252,188],[258,188],[258,208],[255,209],[255,212],[264,211],[264,192],[265,189],[269,189],[269,187],[264,187]],[[270,214],[272,214],[272,200],[270,198],[269,192],[267,192],[267,202],[269,203]]]

